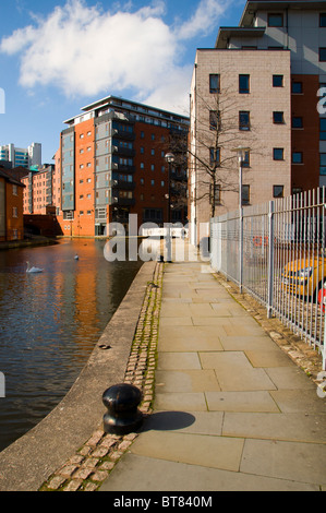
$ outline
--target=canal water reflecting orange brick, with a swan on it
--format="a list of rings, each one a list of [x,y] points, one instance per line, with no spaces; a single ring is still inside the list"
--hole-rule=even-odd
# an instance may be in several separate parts
[[[0,451],[64,397],[138,272],[140,261],[108,262],[105,243],[0,251]],[[26,274],[27,261],[44,272]]]

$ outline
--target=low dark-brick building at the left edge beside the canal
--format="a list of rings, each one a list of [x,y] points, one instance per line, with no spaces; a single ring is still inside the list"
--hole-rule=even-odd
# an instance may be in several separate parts
[[[0,167],[0,242],[24,238],[24,186]]]

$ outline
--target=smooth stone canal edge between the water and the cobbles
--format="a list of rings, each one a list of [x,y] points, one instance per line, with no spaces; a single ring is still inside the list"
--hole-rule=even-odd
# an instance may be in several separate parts
[[[86,366],[62,402],[0,453],[0,491],[37,491],[101,425],[105,390],[123,382],[148,282],[145,262],[108,323]]]

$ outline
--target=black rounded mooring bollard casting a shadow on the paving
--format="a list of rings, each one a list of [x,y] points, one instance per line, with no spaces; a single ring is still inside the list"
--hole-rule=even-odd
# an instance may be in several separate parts
[[[143,422],[137,409],[142,392],[134,385],[121,383],[110,386],[102,394],[108,413],[104,416],[104,430],[111,434],[128,434],[136,431]]]

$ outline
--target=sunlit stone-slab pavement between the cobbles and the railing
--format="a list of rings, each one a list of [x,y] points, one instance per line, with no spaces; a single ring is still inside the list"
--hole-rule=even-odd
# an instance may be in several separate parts
[[[326,490],[326,398],[209,273],[166,264],[153,414],[100,491]]]

